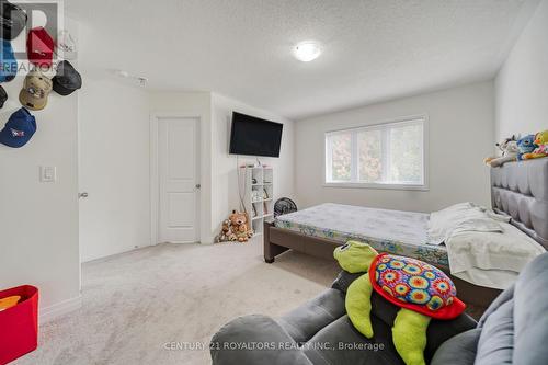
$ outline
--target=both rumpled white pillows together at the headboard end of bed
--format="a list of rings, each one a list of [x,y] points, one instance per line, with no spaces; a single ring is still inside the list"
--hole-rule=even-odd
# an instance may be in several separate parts
[[[476,285],[505,289],[545,249],[509,218],[470,203],[431,215],[431,244],[447,247],[450,272]]]

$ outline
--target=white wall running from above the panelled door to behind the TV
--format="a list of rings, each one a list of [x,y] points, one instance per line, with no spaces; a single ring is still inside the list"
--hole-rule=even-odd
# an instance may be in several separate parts
[[[275,196],[294,196],[293,122],[219,94],[203,92],[155,92],[151,114],[199,116],[202,118],[202,215],[201,241],[212,243],[231,209],[238,209],[236,157],[228,155],[232,111],[284,123],[279,159],[262,158],[275,169]],[[240,161],[254,161],[242,158]]]

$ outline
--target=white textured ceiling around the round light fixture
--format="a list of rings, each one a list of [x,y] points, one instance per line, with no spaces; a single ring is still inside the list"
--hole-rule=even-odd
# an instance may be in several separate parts
[[[299,119],[492,78],[538,0],[65,0],[80,65]],[[83,36],[85,35],[85,36]],[[292,47],[322,43],[312,62]]]

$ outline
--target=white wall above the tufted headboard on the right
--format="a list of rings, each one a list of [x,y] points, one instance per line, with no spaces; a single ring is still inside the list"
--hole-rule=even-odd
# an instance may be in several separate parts
[[[543,0],[495,80],[496,139],[548,128],[548,0]]]

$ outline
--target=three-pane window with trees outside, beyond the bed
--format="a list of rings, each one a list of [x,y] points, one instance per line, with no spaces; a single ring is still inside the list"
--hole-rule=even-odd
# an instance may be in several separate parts
[[[326,183],[426,189],[425,118],[326,134]]]

